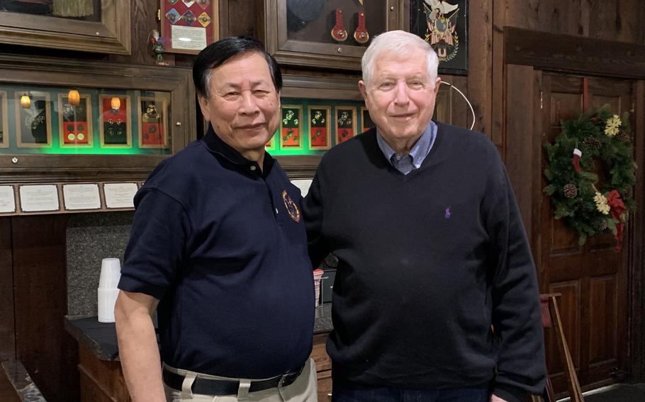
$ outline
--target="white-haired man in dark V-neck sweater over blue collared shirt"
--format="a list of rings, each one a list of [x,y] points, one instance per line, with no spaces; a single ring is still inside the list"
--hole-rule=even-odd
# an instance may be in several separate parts
[[[376,128],[322,158],[303,205],[333,253],[333,401],[524,402],[546,381],[536,272],[486,136],[432,122],[437,55],[403,31],[366,50]]]

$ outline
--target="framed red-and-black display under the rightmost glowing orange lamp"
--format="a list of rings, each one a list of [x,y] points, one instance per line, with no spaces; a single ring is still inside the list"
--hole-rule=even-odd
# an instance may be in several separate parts
[[[130,96],[99,96],[99,134],[101,147],[132,147]]]

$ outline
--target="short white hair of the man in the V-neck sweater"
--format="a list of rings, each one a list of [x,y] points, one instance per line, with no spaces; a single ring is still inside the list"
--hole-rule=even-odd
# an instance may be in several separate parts
[[[374,37],[361,59],[365,85],[372,78],[372,69],[374,69],[376,57],[383,53],[408,54],[413,50],[425,50],[427,53],[428,74],[430,74],[430,80],[434,85],[434,81],[437,79],[437,68],[439,67],[437,53],[434,52],[428,42],[404,30],[391,30]]]

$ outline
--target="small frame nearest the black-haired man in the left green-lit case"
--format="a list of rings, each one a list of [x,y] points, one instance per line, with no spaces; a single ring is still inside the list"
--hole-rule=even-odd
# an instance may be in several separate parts
[[[168,102],[164,98],[140,96],[139,148],[168,147]]]

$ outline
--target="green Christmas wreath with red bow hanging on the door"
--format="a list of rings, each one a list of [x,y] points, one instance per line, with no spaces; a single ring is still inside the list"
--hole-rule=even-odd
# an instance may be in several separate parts
[[[580,245],[611,231],[620,251],[624,224],[635,207],[629,115],[621,119],[605,106],[563,120],[561,128],[554,143],[544,146],[549,163],[544,193],[551,197],[555,218],[578,233]]]

